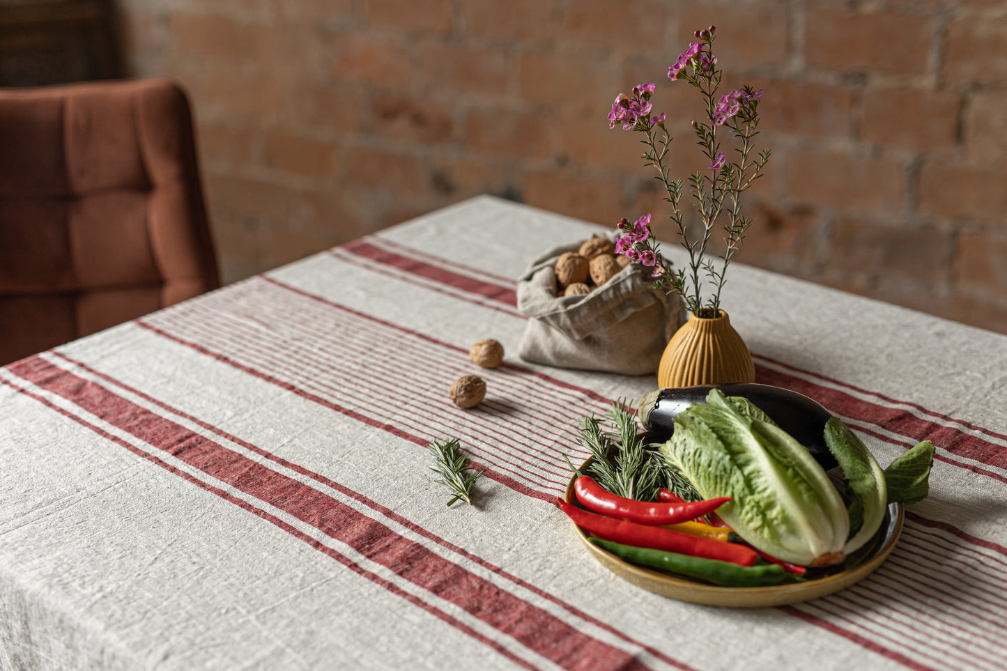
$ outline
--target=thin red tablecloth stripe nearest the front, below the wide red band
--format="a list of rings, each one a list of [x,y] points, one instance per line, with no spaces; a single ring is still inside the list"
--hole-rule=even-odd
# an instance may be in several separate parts
[[[28,361],[28,360],[22,360],[22,361]],[[21,362],[18,362],[18,363],[21,363]],[[33,394],[33,393],[31,393],[30,391],[28,391],[26,389],[22,389],[21,387],[18,387],[17,385],[14,385],[11,382],[8,382],[7,380],[4,380],[3,378],[0,378],[0,383],[5,384],[8,387],[11,387],[12,389],[16,390],[17,392],[19,392],[19,393],[21,393],[21,394],[23,394],[23,395],[25,395],[25,396],[27,396],[27,397],[29,397],[31,399],[34,399],[34,400],[38,401],[39,403],[41,403],[45,407],[49,408],[50,410],[54,410],[54,411],[58,412],[59,414],[61,414],[61,415],[65,416],[65,417],[74,420],[78,424],[81,424],[82,426],[84,426],[84,427],[86,427],[88,429],[91,429],[92,431],[94,431],[98,435],[102,436],[103,438],[111,440],[112,442],[115,442],[115,443],[119,444],[120,446],[125,447],[126,449],[128,449],[131,452],[133,452],[137,456],[140,456],[141,458],[147,459],[148,461],[151,461],[153,463],[156,463],[157,465],[161,466],[165,471],[167,471],[167,472],[169,472],[171,474],[174,474],[175,476],[178,476],[179,478],[181,478],[181,479],[183,479],[183,480],[185,480],[185,481],[187,481],[187,482],[195,485],[196,487],[198,487],[200,489],[203,489],[206,492],[209,492],[211,494],[215,494],[217,496],[221,497],[225,501],[233,503],[236,506],[238,506],[238,507],[240,507],[240,508],[242,508],[244,510],[247,510],[248,512],[252,513],[253,515],[256,515],[257,517],[260,517],[260,518],[266,520],[267,522],[270,522],[271,524],[274,524],[275,526],[277,526],[280,529],[286,531],[287,533],[289,533],[290,535],[294,536],[295,538],[304,541],[305,543],[307,543],[308,545],[310,545],[314,549],[318,550],[322,554],[328,555],[332,559],[335,559],[340,564],[342,564],[346,568],[350,569],[354,573],[356,573],[356,574],[358,574],[358,575],[361,575],[361,576],[363,576],[363,577],[371,580],[372,582],[374,582],[375,584],[377,584],[377,585],[379,585],[381,587],[384,587],[385,589],[387,589],[388,591],[392,592],[393,594],[395,594],[397,596],[401,596],[402,598],[405,598],[406,600],[408,600],[409,602],[413,603],[414,606],[423,609],[427,613],[433,615],[437,619],[439,619],[439,620],[447,623],[448,625],[454,627],[455,629],[457,629],[458,631],[462,632],[463,634],[468,635],[469,637],[471,637],[472,639],[478,641],[479,643],[482,643],[482,644],[484,644],[484,645],[492,648],[493,650],[495,650],[496,652],[500,653],[501,655],[503,655],[508,659],[514,661],[516,664],[519,664],[520,666],[522,666],[522,667],[524,667],[526,669],[532,669],[533,671],[535,671],[535,669],[537,668],[537,667],[533,666],[532,664],[530,664],[528,661],[526,661],[526,660],[518,657],[517,655],[515,655],[510,650],[508,650],[507,648],[505,648],[500,644],[496,643],[492,639],[486,638],[482,634],[479,634],[478,632],[476,632],[475,630],[473,630],[471,627],[469,627],[468,625],[465,625],[464,623],[462,623],[458,619],[454,618],[453,616],[448,615],[444,611],[438,609],[437,607],[435,607],[435,606],[433,606],[431,603],[427,603],[426,601],[424,601],[420,597],[416,596],[415,594],[409,593],[408,591],[402,589],[401,587],[399,587],[395,583],[390,582],[389,580],[381,577],[380,575],[378,575],[378,574],[376,574],[376,573],[374,573],[372,571],[367,570],[366,568],[362,567],[359,564],[357,564],[356,562],[354,562],[353,560],[351,560],[349,557],[346,557],[345,555],[337,552],[336,550],[333,550],[330,547],[322,545],[321,543],[319,543],[314,538],[311,538],[310,536],[308,536],[307,534],[303,533],[302,531],[299,531],[295,527],[290,526],[289,524],[287,524],[283,520],[277,518],[276,516],[271,515],[270,513],[267,513],[266,511],[264,511],[264,510],[262,510],[260,508],[257,508],[257,507],[253,506],[252,504],[248,503],[247,501],[243,501],[242,499],[239,499],[238,497],[236,497],[236,496],[234,496],[232,494],[229,494],[228,492],[225,492],[224,490],[215,488],[212,485],[209,485],[207,483],[204,483],[203,481],[199,480],[198,478],[192,477],[191,475],[185,473],[184,471],[181,471],[181,469],[179,469],[179,468],[171,465],[170,463],[165,462],[164,460],[162,460],[162,459],[154,456],[153,454],[150,454],[148,452],[145,452],[142,449],[139,449],[138,447],[130,444],[129,441],[123,440],[122,438],[120,438],[118,436],[112,435],[111,433],[109,433],[108,431],[105,431],[101,427],[96,426],[96,425],[92,424],[91,422],[88,422],[87,420],[83,419],[82,417],[78,417],[77,415],[75,415],[71,412],[67,412],[63,408],[60,408],[59,406],[57,406],[57,405],[49,402],[48,400],[42,398],[41,396],[38,396],[37,394]],[[104,417],[103,417],[103,419],[104,419]]]

